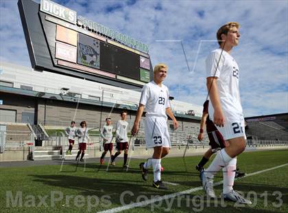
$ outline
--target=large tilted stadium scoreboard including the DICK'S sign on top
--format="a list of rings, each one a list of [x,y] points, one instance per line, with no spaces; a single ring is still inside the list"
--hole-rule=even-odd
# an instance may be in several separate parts
[[[147,45],[49,0],[19,0],[34,69],[45,69],[126,89],[153,78]]]

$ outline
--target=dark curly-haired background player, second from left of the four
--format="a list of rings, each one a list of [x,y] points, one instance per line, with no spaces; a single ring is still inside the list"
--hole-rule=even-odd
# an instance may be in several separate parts
[[[84,161],[85,150],[87,148],[87,142],[89,139],[88,128],[86,121],[80,123],[80,128],[77,128],[76,135],[78,137],[79,151],[76,156],[76,161],[81,154],[80,161]]]

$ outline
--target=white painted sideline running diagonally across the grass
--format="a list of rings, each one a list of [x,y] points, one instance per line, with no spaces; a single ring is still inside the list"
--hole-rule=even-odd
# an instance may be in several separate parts
[[[283,166],[288,166],[288,164],[282,164],[280,166],[275,166],[275,167],[272,167],[272,168],[267,168],[265,170],[260,170],[258,172],[252,172],[248,175],[246,175],[245,177],[249,177],[249,176],[252,176],[252,175],[258,175],[260,173],[263,173],[263,172],[267,172],[267,171],[270,171],[270,170],[274,170],[276,168],[281,168]],[[243,179],[245,177],[242,177],[242,178],[239,178],[239,179]],[[221,183],[223,183],[223,181],[219,181],[217,183],[214,183],[214,186],[218,186],[220,185]],[[173,193],[173,194],[167,194],[167,195],[164,195],[162,197],[158,197],[156,199],[150,199],[150,200],[147,200],[147,201],[141,201],[139,203],[131,203],[131,204],[128,204],[128,205],[122,205],[121,207],[117,207],[117,208],[112,208],[110,210],[104,210],[104,211],[101,211],[101,212],[98,212],[98,213],[114,213],[114,212],[121,212],[123,210],[130,210],[132,208],[136,208],[136,207],[141,207],[143,205],[148,205],[148,204],[151,204],[151,203],[156,203],[158,201],[163,201],[165,199],[171,199],[173,197],[178,197],[182,194],[190,194],[191,192],[196,192],[196,191],[199,191],[199,190],[202,190],[203,187],[202,186],[199,186],[199,187],[196,187],[196,188],[191,188],[189,190],[185,190],[185,191],[182,191],[182,192],[176,192],[176,193]]]

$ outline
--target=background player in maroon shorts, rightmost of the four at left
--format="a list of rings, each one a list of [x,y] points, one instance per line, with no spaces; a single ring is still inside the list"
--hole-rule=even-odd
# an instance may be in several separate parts
[[[126,122],[127,112],[121,112],[121,120],[117,122],[116,127],[116,149],[118,150],[114,156],[111,157],[111,165],[115,165],[115,159],[118,155],[124,150],[124,162],[123,168],[128,168],[127,159],[128,159],[128,122]]]

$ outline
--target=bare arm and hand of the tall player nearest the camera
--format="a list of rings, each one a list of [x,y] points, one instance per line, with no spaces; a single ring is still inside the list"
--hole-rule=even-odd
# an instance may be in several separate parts
[[[206,86],[214,109],[213,122],[216,126],[224,126],[225,118],[220,104],[219,91],[217,87],[217,77],[208,77]]]

